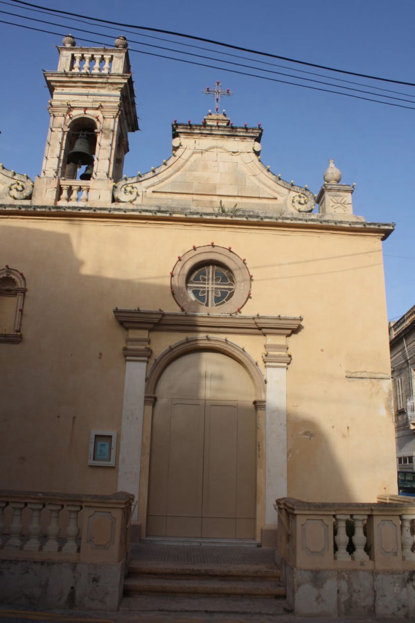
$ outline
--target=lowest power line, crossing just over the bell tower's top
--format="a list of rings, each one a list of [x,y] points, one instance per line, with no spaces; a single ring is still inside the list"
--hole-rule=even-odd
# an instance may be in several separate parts
[[[1,12],[1,11],[0,11]],[[27,18],[25,18],[27,19]],[[40,29],[40,28],[35,28],[34,26],[25,26],[24,24],[16,24],[14,22],[7,22],[4,20],[0,20],[0,23],[2,24],[9,24],[9,26],[16,26],[19,28],[24,28],[27,30],[32,30],[32,31],[36,31],[36,32],[44,32],[45,34],[54,34],[56,36],[60,36],[60,37],[64,37],[65,35],[62,34],[62,32],[58,33],[58,32],[50,32],[50,31],[45,31],[44,29]],[[79,29],[80,30],[80,29]],[[108,35],[102,35],[103,37],[108,37]],[[98,45],[103,45],[102,41],[96,41],[93,39],[83,39],[89,43],[93,43],[93,44],[98,44]],[[144,44],[141,44],[144,45]],[[251,78],[259,78],[260,80],[268,80],[269,82],[278,82],[281,84],[289,84],[291,86],[294,87],[301,87],[301,88],[309,88],[311,90],[314,91],[320,91],[320,92],[324,92],[324,93],[334,93],[335,95],[343,95],[344,97],[351,97],[354,99],[358,99],[358,100],[364,100],[365,102],[374,102],[374,103],[378,103],[378,104],[384,104],[385,106],[393,106],[393,107],[397,107],[397,108],[406,108],[407,110],[415,110],[415,107],[413,106],[405,106],[403,104],[398,104],[398,103],[394,103],[394,102],[383,102],[381,100],[376,100],[370,97],[363,97],[361,95],[353,95],[352,93],[343,93],[341,91],[335,91],[329,88],[322,88],[322,87],[312,87],[311,85],[304,85],[304,84],[299,84],[297,82],[291,82],[290,80],[281,80],[279,78],[271,78],[269,76],[261,76],[261,75],[257,75],[257,74],[250,74],[249,72],[243,72],[243,71],[239,71],[236,69],[230,69],[229,67],[217,67],[217,65],[212,65],[212,64],[205,64],[205,63],[199,63],[197,61],[194,60],[185,60],[185,59],[177,59],[175,57],[170,57],[170,56],[166,56],[164,54],[156,54],[155,52],[145,52],[144,50],[134,50],[133,48],[130,48],[131,52],[137,52],[138,54],[146,54],[149,56],[153,56],[153,57],[157,57],[157,58],[161,58],[161,59],[166,59],[166,60],[175,60],[177,62],[182,62],[182,63],[187,63],[190,65],[197,65],[198,67],[207,67],[208,69],[218,69],[220,71],[227,71],[227,72],[231,72],[232,74],[238,74],[238,75],[244,75],[244,76],[248,76]],[[175,52],[177,52],[177,54],[184,54],[184,52],[180,52],[179,50],[174,50]],[[225,61],[221,61],[220,59],[217,59],[217,62],[225,62]],[[261,70],[259,68],[251,68],[251,69],[258,69],[259,71],[264,71]],[[279,72],[275,72],[275,73],[279,73]],[[286,75],[286,74],[282,74],[282,75]],[[297,76],[294,76],[295,79],[299,79]],[[345,87],[337,87],[337,85],[330,85],[333,86],[335,88],[345,88]],[[378,95],[376,93],[373,93],[373,95]],[[378,95],[378,97],[386,97],[385,95]],[[395,98],[393,98],[395,99]],[[415,102],[411,102],[410,100],[404,100],[408,103],[415,103]]]

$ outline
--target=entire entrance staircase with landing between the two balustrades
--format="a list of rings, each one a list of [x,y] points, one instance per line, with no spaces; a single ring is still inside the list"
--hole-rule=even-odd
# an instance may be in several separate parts
[[[287,614],[274,549],[253,541],[142,540],[121,611]]]

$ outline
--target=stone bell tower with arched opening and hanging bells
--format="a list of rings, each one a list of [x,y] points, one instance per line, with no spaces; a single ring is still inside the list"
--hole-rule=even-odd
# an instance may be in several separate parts
[[[128,42],[79,47],[68,35],[58,51],[57,71],[44,71],[50,124],[32,202],[108,204],[123,174],[128,132],[139,129]]]

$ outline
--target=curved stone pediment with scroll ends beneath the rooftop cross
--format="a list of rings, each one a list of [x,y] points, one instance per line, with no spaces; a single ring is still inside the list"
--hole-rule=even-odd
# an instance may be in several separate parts
[[[260,134],[257,128],[176,124],[173,155],[148,173],[119,181],[114,200],[222,214],[311,212],[315,198],[308,189],[261,163]]]

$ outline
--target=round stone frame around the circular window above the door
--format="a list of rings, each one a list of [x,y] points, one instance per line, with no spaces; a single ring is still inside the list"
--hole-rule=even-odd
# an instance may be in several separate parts
[[[187,279],[198,267],[216,264],[230,270],[235,279],[235,292],[230,300],[209,307],[210,314],[226,314],[240,312],[251,295],[251,274],[246,266],[246,260],[241,259],[230,248],[217,247],[216,245],[204,245],[193,247],[184,255],[179,255],[172,270],[170,285],[175,302],[183,312],[206,313],[207,307],[198,300],[190,298],[187,290]]]

